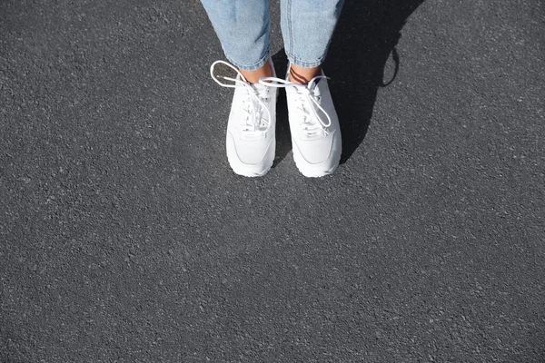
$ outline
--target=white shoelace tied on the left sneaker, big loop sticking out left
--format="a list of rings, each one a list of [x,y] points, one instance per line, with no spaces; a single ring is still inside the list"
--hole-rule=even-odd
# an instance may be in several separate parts
[[[217,64],[224,64],[230,67],[231,69],[236,72],[240,79],[231,78],[231,77],[225,77],[223,75],[215,75],[213,74],[213,70]],[[260,96],[260,94],[253,88],[252,83],[246,82],[243,74],[239,72],[238,69],[236,69],[232,64],[228,64],[227,62],[223,61],[215,61],[210,66],[210,75],[212,76],[212,79],[221,85],[222,87],[229,87],[229,88],[236,88],[236,87],[244,87],[247,98],[246,102],[248,103],[248,108],[244,109],[244,112],[246,113],[246,118],[243,123],[243,132],[255,132],[258,128],[262,126],[265,127],[265,131],[269,129],[271,126],[271,111],[269,111],[269,107],[265,103],[263,103],[263,98]],[[223,83],[218,78],[222,78],[225,81],[233,82],[233,84],[229,83]],[[267,115],[269,116],[266,121],[263,120],[262,117],[262,110],[265,110]]]

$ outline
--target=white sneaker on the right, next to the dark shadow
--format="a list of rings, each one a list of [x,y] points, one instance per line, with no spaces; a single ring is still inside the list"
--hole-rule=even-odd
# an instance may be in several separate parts
[[[331,174],[339,166],[342,152],[341,128],[333,106],[332,94],[323,74],[308,84],[266,77],[260,83],[285,87],[288,101],[293,160],[306,177]]]

